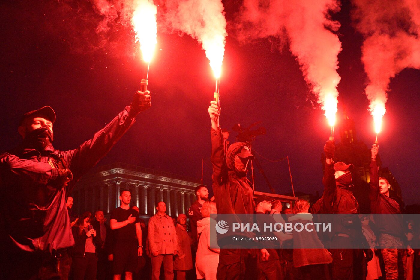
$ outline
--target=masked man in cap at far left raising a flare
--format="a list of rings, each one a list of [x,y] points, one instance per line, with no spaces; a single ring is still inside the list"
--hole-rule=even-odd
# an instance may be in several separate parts
[[[74,245],[66,201],[74,184],[104,157],[150,108],[150,92],[136,92],[92,139],[73,150],[54,149],[55,112],[45,106],[24,114],[18,132],[23,142],[0,154],[0,237],[4,279],[67,279]],[[72,180],[73,179],[73,180]]]

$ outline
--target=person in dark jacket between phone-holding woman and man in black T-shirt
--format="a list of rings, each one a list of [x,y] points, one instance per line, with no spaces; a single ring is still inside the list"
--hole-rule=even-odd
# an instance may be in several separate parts
[[[96,231],[96,235],[102,240],[102,246],[97,248],[98,269],[96,273],[97,280],[106,280],[111,274],[108,254],[112,254],[112,231],[104,217],[104,212],[98,210],[95,212],[95,220],[91,225]]]

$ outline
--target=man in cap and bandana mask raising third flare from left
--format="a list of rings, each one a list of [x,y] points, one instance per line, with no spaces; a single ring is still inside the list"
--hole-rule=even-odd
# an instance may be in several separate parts
[[[350,172],[354,165],[344,162],[334,163],[334,152],[335,145],[333,141],[328,140],[324,146],[326,157],[323,177],[324,194],[320,200],[321,213],[340,214],[333,215],[333,229],[328,234],[330,248],[332,248],[329,251],[333,257],[333,280],[362,279],[363,274],[367,273],[367,262],[363,251],[354,248],[360,248],[361,244],[367,246],[367,241],[357,216],[359,203],[351,191],[353,182]],[[340,247],[343,249],[336,249]],[[373,253],[370,249],[366,249],[365,253],[367,259],[372,259]]]

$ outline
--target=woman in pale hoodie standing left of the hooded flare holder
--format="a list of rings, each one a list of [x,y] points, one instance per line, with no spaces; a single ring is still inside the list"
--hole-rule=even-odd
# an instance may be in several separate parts
[[[216,203],[210,200],[205,201],[201,208],[203,218],[197,221],[198,249],[195,257],[197,279],[216,280],[220,249],[210,248],[210,214],[215,213],[217,213]],[[212,238],[216,239],[216,236]]]

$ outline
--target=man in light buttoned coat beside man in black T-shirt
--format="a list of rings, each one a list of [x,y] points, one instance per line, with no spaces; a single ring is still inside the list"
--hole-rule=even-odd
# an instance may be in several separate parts
[[[166,215],[166,204],[157,203],[156,215],[150,218],[147,239],[152,258],[152,280],[159,280],[163,262],[165,280],[173,280],[173,256],[178,252],[176,229],[172,218]]]

